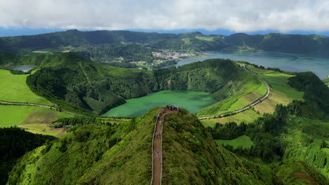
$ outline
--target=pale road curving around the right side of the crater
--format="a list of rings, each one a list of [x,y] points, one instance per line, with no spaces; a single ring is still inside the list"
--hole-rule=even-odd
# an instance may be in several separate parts
[[[243,66],[243,69],[247,70],[247,71],[250,71],[249,69],[247,69],[247,67],[245,67],[245,65]],[[262,96],[262,97],[259,97],[257,100],[254,100],[252,102],[250,102],[250,104],[248,104],[246,107],[243,107],[241,109],[237,109],[236,111],[233,111],[229,114],[236,114],[236,113],[239,113],[241,111],[245,111],[247,109],[249,109],[250,107],[252,106],[255,106],[256,104],[259,104],[260,102],[266,100],[269,95],[271,95],[271,88],[269,87],[269,84],[266,83],[266,81],[264,80],[264,78],[260,77],[259,75],[255,74],[253,71],[250,71],[252,74],[254,74],[254,76],[257,76],[259,79],[261,79],[265,85],[266,85],[266,88],[267,88],[267,92],[266,92],[266,95]],[[202,118],[199,118],[200,120],[202,119],[207,119],[207,118],[218,118],[220,116],[225,116],[226,114],[221,114],[221,115],[218,115],[218,116],[207,116],[207,117],[202,117]]]

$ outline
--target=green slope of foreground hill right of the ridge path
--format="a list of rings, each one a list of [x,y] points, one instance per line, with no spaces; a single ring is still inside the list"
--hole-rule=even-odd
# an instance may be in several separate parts
[[[185,111],[168,115],[163,132],[164,184],[273,183],[268,169],[245,163],[217,146],[200,121]]]

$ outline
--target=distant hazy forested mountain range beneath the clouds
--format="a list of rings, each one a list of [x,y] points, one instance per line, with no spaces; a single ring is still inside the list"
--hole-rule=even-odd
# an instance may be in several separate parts
[[[329,38],[320,35],[232,34],[231,36],[223,36],[203,35],[200,32],[157,34],[129,31],[79,32],[76,29],[34,36],[2,37],[0,38],[0,50],[20,54],[32,54],[34,50],[58,50],[60,52],[61,50],[66,50],[67,47],[77,48],[85,45],[122,42],[138,43],[154,49],[181,52],[265,50],[285,53],[329,54]],[[91,47],[91,50],[94,50],[90,54],[95,55],[95,57],[102,50],[98,46],[89,47]],[[86,53],[89,52],[87,51]]]

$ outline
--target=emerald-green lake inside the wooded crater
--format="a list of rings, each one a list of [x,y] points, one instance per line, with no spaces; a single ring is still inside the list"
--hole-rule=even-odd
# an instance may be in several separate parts
[[[190,90],[163,90],[157,93],[127,100],[125,104],[110,109],[103,116],[142,116],[153,107],[178,105],[195,113],[202,108],[214,104],[216,101],[209,93]]]

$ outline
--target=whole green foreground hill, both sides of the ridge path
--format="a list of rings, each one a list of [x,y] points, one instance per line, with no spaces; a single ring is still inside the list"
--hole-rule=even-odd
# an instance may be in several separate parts
[[[121,125],[85,125],[48,142],[18,161],[7,184],[148,184],[154,123],[161,109]],[[304,172],[283,164],[271,170],[238,158],[218,146],[198,118],[184,109],[167,115],[163,133],[162,183],[282,184],[274,172]],[[318,184],[325,182],[303,165]]]

